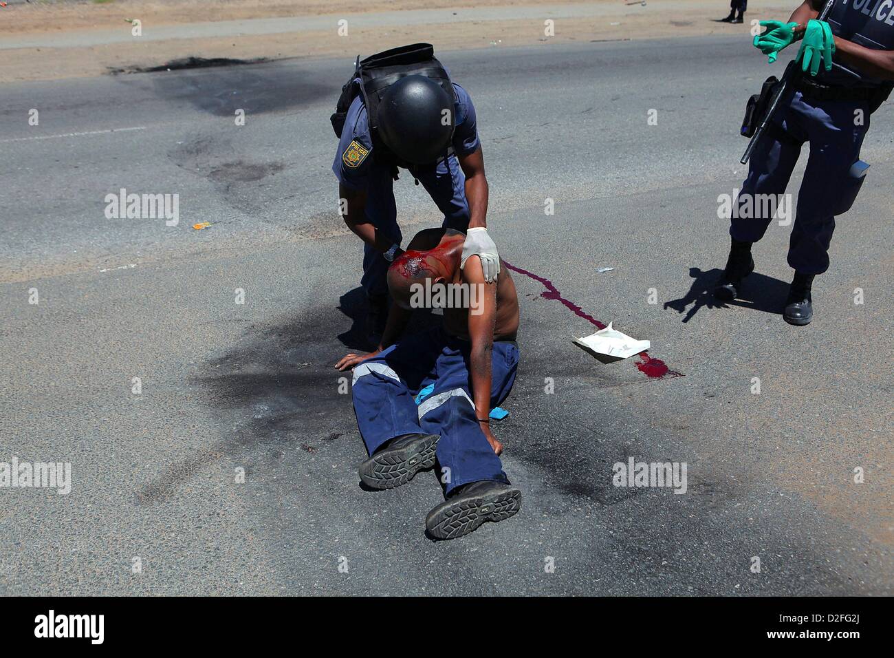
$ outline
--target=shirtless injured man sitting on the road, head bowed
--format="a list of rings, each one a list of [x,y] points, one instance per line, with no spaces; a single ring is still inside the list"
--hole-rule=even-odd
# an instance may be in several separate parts
[[[460,267],[464,240],[450,228],[420,231],[388,269],[392,305],[381,345],[335,365],[353,369],[369,454],[359,467],[363,483],[392,489],[437,462],[445,500],[426,517],[435,539],[502,521],[521,506],[489,419],[515,381],[519,300],[507,269],[488,284],[477,256]],[[443,326],[401,339],[414,308],[435,307],[443,308]],[[417,405],[420,391],[427,395]]]

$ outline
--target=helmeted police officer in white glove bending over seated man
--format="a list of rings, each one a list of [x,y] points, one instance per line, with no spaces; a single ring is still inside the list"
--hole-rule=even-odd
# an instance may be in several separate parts
[[[466,233],[461,267],[477,254],[485,279],[496,278],[500,256],[487,235],[488,187],[475,107],[429,44],[358,62],[332,121],[341,138],[333,172],[342,218],[365,243],[360,285],[374,343],[387,317],[388,265],[402,252],[392,187],[399,167],[426,188],[443,212],[443,226]]]

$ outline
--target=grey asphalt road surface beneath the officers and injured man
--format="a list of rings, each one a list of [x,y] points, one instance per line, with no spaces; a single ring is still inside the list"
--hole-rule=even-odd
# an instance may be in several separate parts
[[[790,226],[744,300],[705,293],[745,100],[783,62],[720,37],[441,55],[476,103],[490,231],[533,275],[494,425],[520,513],[436,543],[434,474],[359,487],[333,363],[363,347],[360,245],[328,122],[352,62],[11,84],[0,462],[72,484],[0,488],[0,594],[890,594],[891,104],[795,328]],[[179,222],[106,218],[121,188],[177,194]],[[396,192],[405,240],[439,224],[409,176]],[[570,342],[586,315],[683,376],[595,362]],[[685,463],[686,493],[614,486],[629,457]]]

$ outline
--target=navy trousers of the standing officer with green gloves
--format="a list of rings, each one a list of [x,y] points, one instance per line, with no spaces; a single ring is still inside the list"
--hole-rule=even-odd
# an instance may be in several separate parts
[[[740,204],[746,195],[783,194],[801,147],[805,141],[810,142],[789,239],[789,265],[798,272],[822,274],[829,269],[835,211],[842,191],[850,184],[850,167],[860,157],[869,115],[864,101],[814,101],[795,91],[791,101],[780,106],[773,119],[775,127],[763,136],[749,160],[748,177],[739,192]],[[759,206],[753,203],[755,209]],[[733,212],[730,235],[743,242],[760,240],[772,217],[754,217],[752,212],[751,217],[740,218],[740,214]]]

